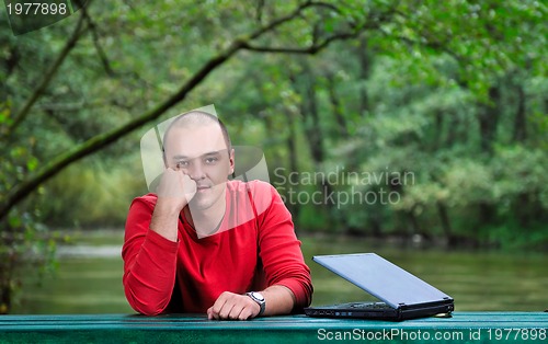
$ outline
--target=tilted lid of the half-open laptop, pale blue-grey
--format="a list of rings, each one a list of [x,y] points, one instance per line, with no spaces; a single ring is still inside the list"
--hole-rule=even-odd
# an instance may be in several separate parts
[[[393,308],[450,298],[375,253],[317,255],[313,261]]]

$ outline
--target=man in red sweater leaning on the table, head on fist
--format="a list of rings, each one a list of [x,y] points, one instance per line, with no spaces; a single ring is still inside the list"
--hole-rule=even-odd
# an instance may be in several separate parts
[[[228,181],[235,151],[225,125],[194,111],[163,139],[157,194],[134,199],[126,222],[124,288],[138,312],[205,312],[247,320],[311,301],[292,217],[259,181]]]

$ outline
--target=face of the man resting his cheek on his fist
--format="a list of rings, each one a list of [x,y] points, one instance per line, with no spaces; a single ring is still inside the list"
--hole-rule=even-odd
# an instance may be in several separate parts
[[[183,171],[196,182],[196,194],[189,204],[191,213],[224,202],[235,160],[217,123],[173,127],[164,147],[168,167]]]

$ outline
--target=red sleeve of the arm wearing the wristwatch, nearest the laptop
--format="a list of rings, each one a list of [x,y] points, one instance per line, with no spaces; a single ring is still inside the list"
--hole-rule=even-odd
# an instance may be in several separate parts
[[[259,250],[266,282],[289,288],[296,298],[295,310],[311,302],[312,283],[310,270],[305,264],[300,241],[295,234],[292,215],[279,194],[270,184],[255,184],[254,193],[271,195],[270,205],[261,204],[263,197],[255,197],[259,209]]]

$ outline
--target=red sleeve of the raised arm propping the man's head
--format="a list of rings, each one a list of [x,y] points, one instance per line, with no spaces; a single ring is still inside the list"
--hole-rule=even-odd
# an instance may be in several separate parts
[[[133,309],[147,316],[159,314],[169,305],[179,246],[149,229],[155,198],[147,195],[132,203],[122,249],[126,298]]]

